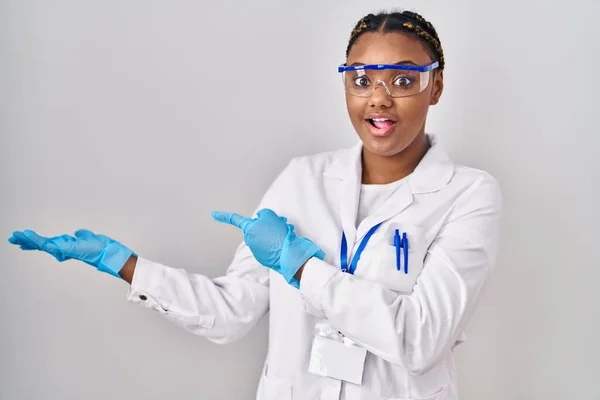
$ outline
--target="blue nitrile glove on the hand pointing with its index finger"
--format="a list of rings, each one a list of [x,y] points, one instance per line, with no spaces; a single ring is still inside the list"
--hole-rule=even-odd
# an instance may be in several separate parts
[[[213,211],[215,221],[237,226],[244,232],[244,242],[254,258],[272,270],[283,275],[290,285],[299,288],[300,282],[294,278],[300,267],[311,257],[325,258],[325,253],[316,244],[294,232],[294,226],[287,223],[268,208],[258,212],[258,218]]]

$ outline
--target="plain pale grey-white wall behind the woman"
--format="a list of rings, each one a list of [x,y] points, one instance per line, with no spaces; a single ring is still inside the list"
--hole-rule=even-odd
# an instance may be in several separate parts
[[[219,276],[292,156],[357,138],[336,67],[396,1],[0,0],[0,236],[88,228]],[[404,1],[438,29],[430,112],[506,216],[461,399],[600,399],[600,2]],[[267,321],[219,346],[127,303],[127,284],[0,244],[0,399],[253,399]],[[290,343],[290,346],[293,346]]]

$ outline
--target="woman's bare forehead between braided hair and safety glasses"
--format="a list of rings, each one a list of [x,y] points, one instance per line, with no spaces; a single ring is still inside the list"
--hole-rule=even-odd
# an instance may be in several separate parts
[[[354,42],[348,54],[347,64],[394,64],[399,61],[426,65],[433,60],[421,41],[412,35],[399,32],[367,32]]]

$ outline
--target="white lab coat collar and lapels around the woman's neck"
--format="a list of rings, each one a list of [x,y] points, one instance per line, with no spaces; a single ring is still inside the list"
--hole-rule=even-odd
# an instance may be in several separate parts
[[[414,194],[431,193],[445,187],[454,173],[454,164],[434,135],[427,135],[430,148],[417,168],[379,210],[365,218],[358,228],[356,218],[362,180],[362,143],[348,149],[324,171],[324,175],[342,180],[340,190],[342,229],[349,243],[360,240],[374,225],[399,214],[413,201]]]

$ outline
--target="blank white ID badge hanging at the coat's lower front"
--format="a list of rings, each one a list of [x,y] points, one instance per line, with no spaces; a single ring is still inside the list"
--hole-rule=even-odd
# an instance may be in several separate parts
[[[327,335],[321,329],[313,340],[308,372],[361,385],[366,355],[365,349],[339,333]]]

